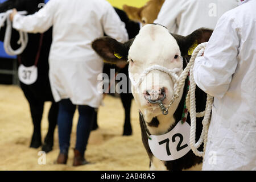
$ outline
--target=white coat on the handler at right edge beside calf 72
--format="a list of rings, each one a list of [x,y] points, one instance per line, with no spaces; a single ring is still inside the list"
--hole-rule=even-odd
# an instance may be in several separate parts
[[[214,96],[203,170],[256,170],[256,1],[225,13],[194,65]]]

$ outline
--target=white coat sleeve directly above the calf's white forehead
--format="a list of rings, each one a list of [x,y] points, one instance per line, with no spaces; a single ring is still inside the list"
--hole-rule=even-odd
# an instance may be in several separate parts
[[[164,1],[158,17],[155,19],[154,23],[162,24],[171,33],[175,33],[178,26],[177,26],[177,16],[181,13],[181,7],[182,3],[179,1],[175,0],[166,0]]]

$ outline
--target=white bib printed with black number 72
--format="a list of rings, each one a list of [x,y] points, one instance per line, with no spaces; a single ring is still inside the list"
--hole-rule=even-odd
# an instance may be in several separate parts
[[[166,134],[150,135],[148,139],[150,150],[160,160],[169,161],[183,157],[191,150],[189,146],[190,125],[187,122],[178,122]]]

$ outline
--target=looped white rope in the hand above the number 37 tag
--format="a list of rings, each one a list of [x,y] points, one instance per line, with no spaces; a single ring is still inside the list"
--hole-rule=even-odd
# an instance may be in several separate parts
[[[9,55],[19,55],[20,53],[22,53],[24,51],[24,49],[27,46],[28,43],[28,35],[26,32],[23,31],[19,31],[19,40],[18,40],[18,44],[21,44],[20,48],[13,50],[13,48],[11,48],[11,28],[12,28],[12,24],[11,24],[11,20],[9,18],[10,14],[13,12],[13,10],[8,10],[5,13],[1,13],[0,14],[0,30],[1,27],[3,27],[4,23],[7,22],[6,24],[6,31],[5,31],[5,39],[3,41],[3,46],[5,47],[5,52]],[[26,11],[19,11],[19,14],[27,14]]]

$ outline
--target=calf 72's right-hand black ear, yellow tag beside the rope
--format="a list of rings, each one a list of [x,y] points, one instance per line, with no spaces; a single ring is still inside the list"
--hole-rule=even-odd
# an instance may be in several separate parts
[[[191,56],[193,49],[195,49],[197,45],[203,42],[208,42],[212,32],[213,30],[208,28],[199,28],[188,36],[181,36],[176,34],[172,34],[172,36],[174,36],[177,44],[180,47],[181,56]]]

